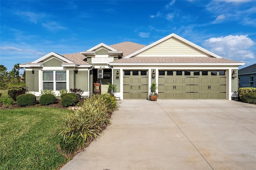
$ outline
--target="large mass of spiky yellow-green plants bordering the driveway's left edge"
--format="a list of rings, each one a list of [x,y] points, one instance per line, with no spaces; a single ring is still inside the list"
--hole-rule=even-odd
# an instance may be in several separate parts
[[[100,136],[111,123],[110,111],[118,108],[116,100],[113,99],[110,94],[92,95],[84,100],[80,109],[68,114],[59,134],[62,137],[62,152],[73,154]]]

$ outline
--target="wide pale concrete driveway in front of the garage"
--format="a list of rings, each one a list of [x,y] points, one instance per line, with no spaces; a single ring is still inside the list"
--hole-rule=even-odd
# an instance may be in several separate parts
[[[112,125],[62,170],[254,170],[256,105],[122,100]]]

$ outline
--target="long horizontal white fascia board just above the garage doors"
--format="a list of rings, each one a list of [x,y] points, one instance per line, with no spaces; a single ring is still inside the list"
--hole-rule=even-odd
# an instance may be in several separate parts
[[[109,63],[112,66],[242,66],[245,63]]]

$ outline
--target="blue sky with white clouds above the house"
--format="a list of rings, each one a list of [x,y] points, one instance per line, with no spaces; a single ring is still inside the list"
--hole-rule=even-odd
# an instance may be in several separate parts
[[[149,45],[171,33],[225,59],[256,63],[255,0],[0,0],[0,8],[0,64],[8,71],[51,51]]]

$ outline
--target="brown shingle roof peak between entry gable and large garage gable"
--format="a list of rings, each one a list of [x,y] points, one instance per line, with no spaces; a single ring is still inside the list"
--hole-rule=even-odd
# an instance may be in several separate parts
[[[113,49],[116,49],[117,51],[122,51],[123,55],[124,55],[123,57],[126,57],[126,56],[146,47],[146,45],[126,41],[123,43],[109,45],[109,47],[112,47]]]

